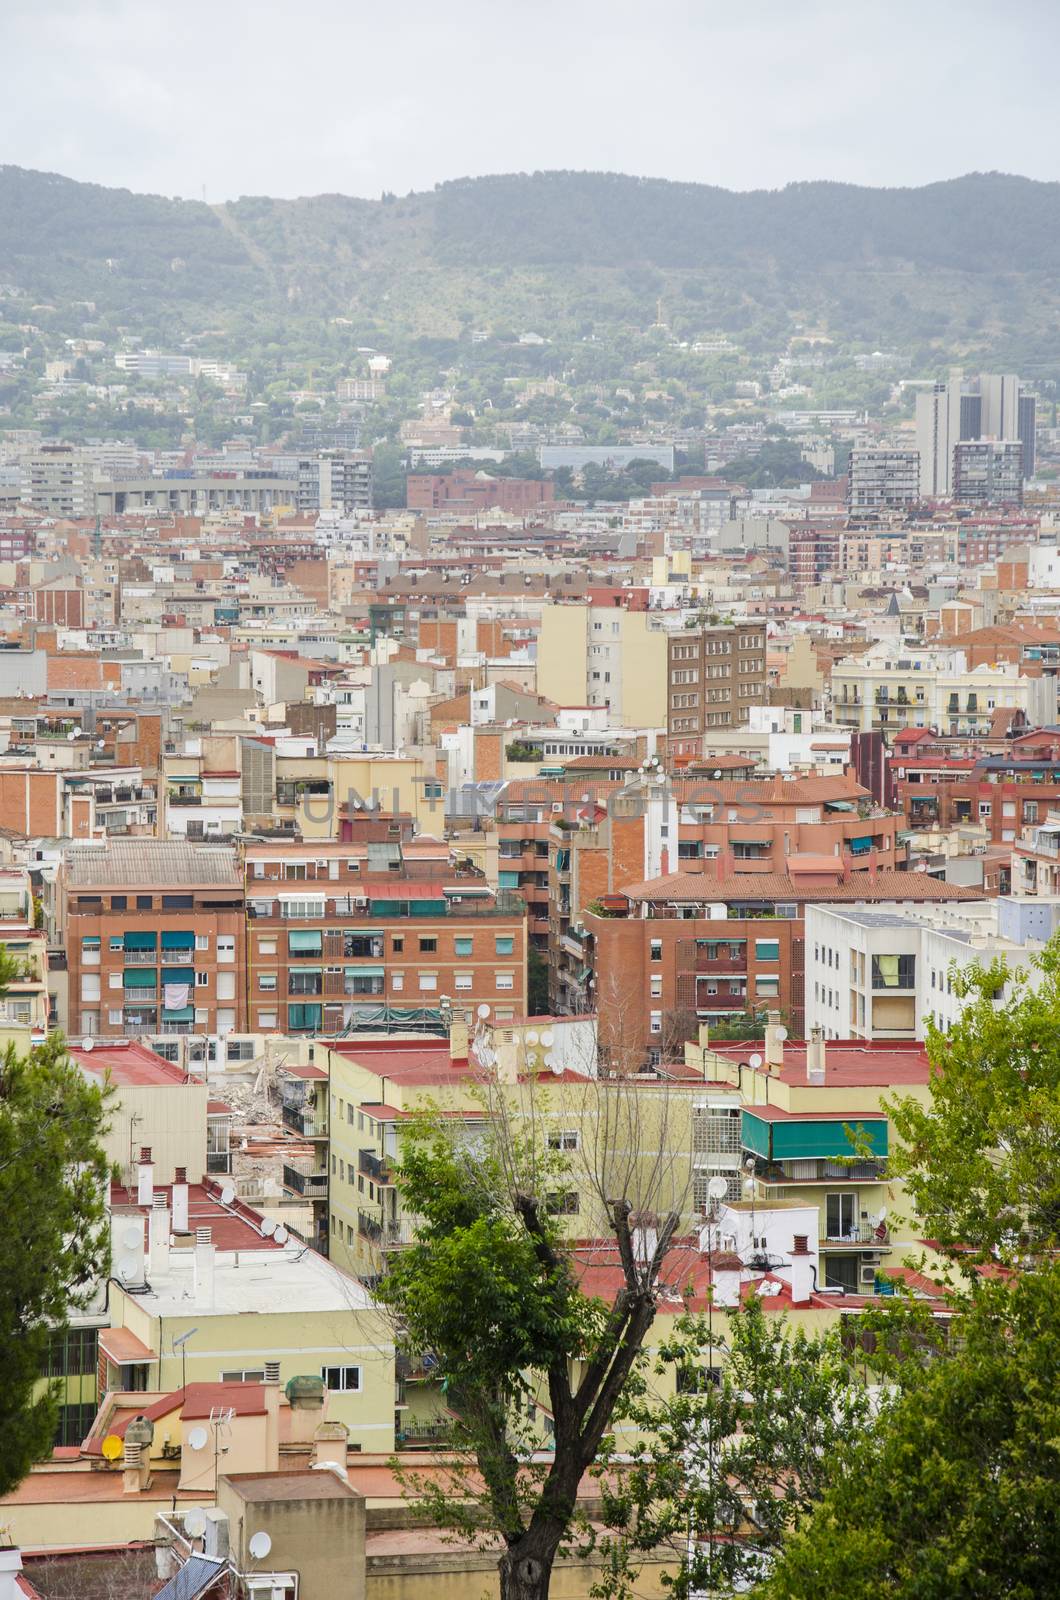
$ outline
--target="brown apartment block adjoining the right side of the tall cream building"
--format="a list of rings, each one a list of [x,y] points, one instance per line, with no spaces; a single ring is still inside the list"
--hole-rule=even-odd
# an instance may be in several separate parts
[[[666,637],[666,734],[674,755],[700,755],[703,734],[738,728],[769,699],[765,624]]]

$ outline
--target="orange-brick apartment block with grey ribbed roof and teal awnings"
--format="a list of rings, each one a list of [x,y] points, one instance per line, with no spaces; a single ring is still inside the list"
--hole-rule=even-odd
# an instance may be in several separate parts
[[[155,838],[67,846],[58,918],[72,1034],[245,1026],[243,877],[234,850]]]

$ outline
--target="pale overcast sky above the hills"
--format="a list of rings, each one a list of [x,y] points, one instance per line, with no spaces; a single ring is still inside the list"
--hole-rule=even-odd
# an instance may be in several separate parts
[[[1060,176],[1055,0],[0,0],[0,162],[208,200]]]

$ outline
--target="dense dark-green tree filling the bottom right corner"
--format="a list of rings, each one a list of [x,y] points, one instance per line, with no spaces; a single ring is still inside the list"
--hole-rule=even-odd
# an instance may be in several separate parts
[[[980,1283],[953,1349],[895,1365],[761,1600],[1039,1600],[1060,1562],[1060,1267]]]

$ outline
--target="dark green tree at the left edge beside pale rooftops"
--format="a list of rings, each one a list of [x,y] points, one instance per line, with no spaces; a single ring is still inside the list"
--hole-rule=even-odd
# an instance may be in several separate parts
[[[0,992],[11,958],[0,952]],[[58,1394],[40,1386],[51,1334],[106,1266],[104,1091],[59,1035],[0,1064],[0,1494],[54,1435]]]

